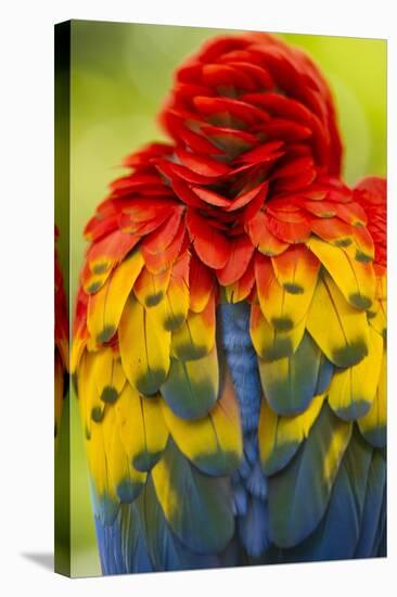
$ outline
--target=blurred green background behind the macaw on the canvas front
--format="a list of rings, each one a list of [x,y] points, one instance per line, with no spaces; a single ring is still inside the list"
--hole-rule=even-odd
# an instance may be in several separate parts
[[[71,296],[75,296],[86,243],[85,223],[123,172],[121,158],[163,138],[156,114],[176,66],[225,30],[74,21],[71,77]],[[345,143],[344,176],[386,174],[386,42],[357,38],[282,35],[306,49],[328,78]],[[72,575],[100,573],[87,462],[76,397],[62,433],[71,429]],[[67,421],[67,414],[71,419]],[[61,435],[62,443],[62,435]],[[59,458],[65,459],[65,450]]]

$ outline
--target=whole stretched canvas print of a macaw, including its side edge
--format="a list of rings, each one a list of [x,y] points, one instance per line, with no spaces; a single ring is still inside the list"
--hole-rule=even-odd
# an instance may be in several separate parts
[[[386,42],[55,26],[55,569],[386,556]]]

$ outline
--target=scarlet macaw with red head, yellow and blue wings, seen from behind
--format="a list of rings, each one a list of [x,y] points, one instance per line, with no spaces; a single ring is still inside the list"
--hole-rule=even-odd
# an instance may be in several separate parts
[[[386,181],[299,48],[216,36],[88,221],[72,373],[103,574],[386,554]]]

